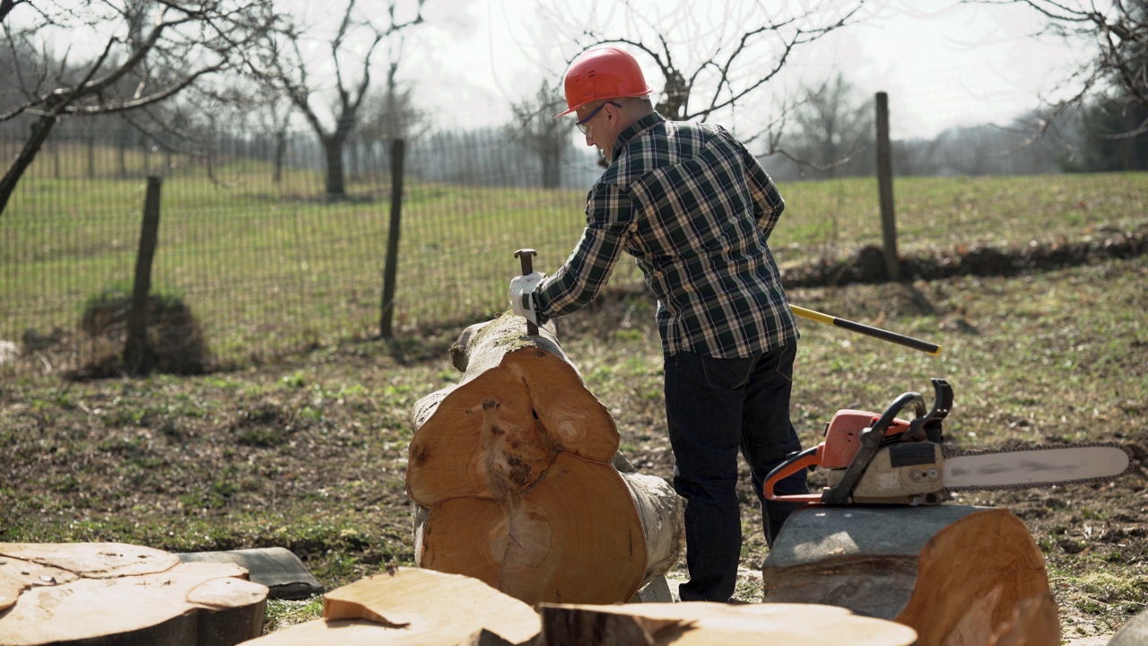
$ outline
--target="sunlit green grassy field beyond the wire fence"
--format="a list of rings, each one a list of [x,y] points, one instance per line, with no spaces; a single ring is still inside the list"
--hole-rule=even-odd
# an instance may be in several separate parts
[[[215,354],[246,361],[378,333],[389,198],[354,184],[327,203],[315,174],[269,189],[266,170],[217,169],[216,184],[176,175],[163,186],[153,286],[179,294]],[[142,179],[31,177],[0,217],[0,339],[73,329],[84,302],[134,271]],[[311,187],[311,189],[308,189]],[[876,186],[851,178],[781,186],[773,244],[783,263],[879,245]],[[905,178],[895,186],[903,254],[956,253],[1128,230],[1148,218],[1148,174]],[[403,334],[494,314],[534,247],[552,271],[583,225],[582,191],[408,182],[395,326]],[[623,260],[614,285],[639,284]],[[76,339],[80,344],[83,339]]]

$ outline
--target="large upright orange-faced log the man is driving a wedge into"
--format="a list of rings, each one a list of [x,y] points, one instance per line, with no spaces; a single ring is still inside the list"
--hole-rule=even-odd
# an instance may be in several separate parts
[[[416,562],[528,603],[627,601],[681,556],[682,501],[614,467],[618,426],[553,326],[525,331],[509,313],[468,328],[463,378],[413,407]]]

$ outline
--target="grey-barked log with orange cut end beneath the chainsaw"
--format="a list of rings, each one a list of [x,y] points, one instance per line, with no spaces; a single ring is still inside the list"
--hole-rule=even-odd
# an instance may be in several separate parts
[[[767,602],[894,620],[923,645],[988,644],[1022,624],[1058,643],[1044,554],[1007,509],[805,507],[785,522],[762,579]]]

